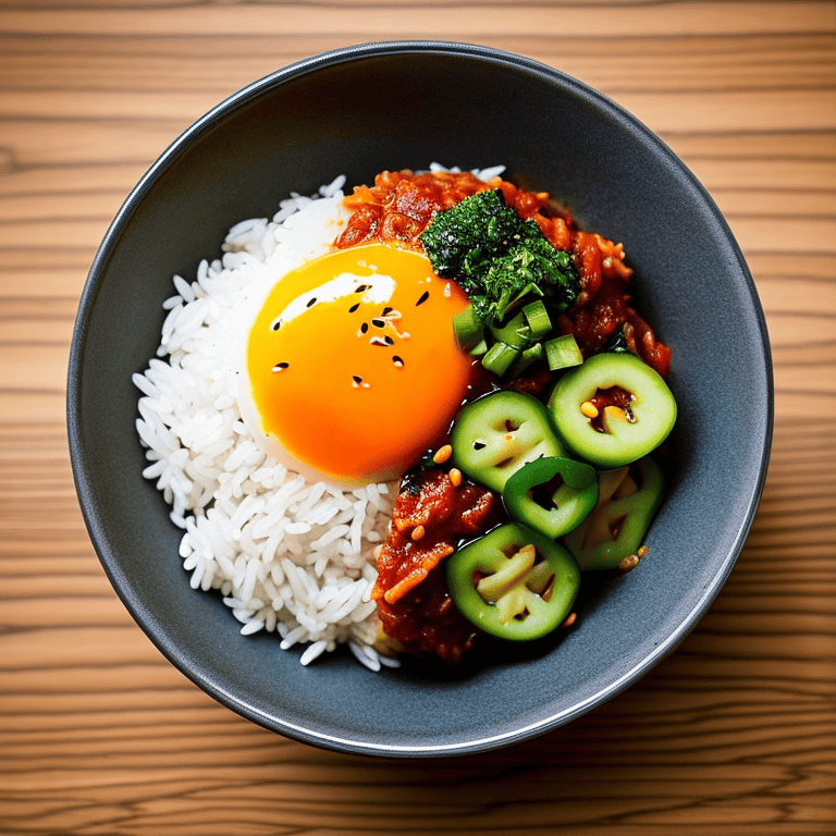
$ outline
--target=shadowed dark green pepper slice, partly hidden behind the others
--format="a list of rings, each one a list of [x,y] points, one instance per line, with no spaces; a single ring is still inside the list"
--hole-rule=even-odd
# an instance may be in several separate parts
[[[624,470],[616,480],[612,472],[600,475],[598,507],[563,538],[583,571],[612,569],[636,554],[662,502],[662,468],[652,458],[646,456]]]

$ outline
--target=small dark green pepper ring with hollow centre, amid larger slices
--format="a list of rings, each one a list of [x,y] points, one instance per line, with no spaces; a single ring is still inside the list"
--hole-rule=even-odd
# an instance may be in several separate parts
[[[560,482],[554,484],[556,477]],[[512,518],[555,539],[577,528],[598,503],[595,471],[570,458],[538,458],[514,474],[502,491]]]

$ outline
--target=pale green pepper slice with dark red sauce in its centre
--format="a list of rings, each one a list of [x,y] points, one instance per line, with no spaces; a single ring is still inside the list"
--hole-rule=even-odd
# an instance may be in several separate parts
[[[655,450],[676,421],[667,384],[632,354],[590,357],[561,379],[549,408],[566,446],[606,468]]]

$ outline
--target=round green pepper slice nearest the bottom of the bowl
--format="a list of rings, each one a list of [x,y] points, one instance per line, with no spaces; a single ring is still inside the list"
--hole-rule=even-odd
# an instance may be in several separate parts
[[[516,524],[457,551],[446,571],[462,615],[491,636],[515,641],[560,627],[580,586],[580,570],[565,549]]]

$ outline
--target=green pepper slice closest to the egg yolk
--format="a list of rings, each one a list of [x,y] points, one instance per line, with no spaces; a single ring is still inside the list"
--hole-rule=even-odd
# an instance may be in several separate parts
[[[563,456],[549,410],[532,395],[520,392],[492,392],[465,406],[450,441],[453,464],[497,493],[528,462]]]

